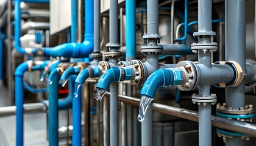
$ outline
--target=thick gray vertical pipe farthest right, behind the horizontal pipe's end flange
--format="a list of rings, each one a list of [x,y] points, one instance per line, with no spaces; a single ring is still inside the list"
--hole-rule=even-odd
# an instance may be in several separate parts
[[[245,0],[225,1],[226,60],[240,64],[246,74],[246,11]],[[238,110],[245,105],[245,83],[226,88],[227,107]],[[244,145],[243,139],[227,139],[226,145]]]

